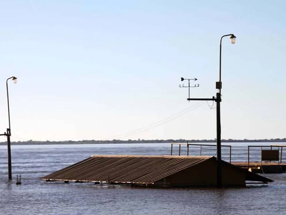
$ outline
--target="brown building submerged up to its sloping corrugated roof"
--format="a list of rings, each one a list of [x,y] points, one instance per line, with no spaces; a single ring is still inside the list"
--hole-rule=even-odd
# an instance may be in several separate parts
[[[41,178],[143,186],[216,186],[217,159],[211,156],[92,155]],[[223,186],[245,186],[271,179],[222,161]]]

